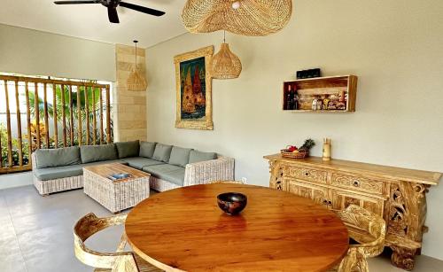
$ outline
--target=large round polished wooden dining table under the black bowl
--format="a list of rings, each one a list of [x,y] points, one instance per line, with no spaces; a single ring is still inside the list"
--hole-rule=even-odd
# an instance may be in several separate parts
[[[236,191],[245,210],[228,215],[217,195]],[[266,187],[207,184],[139,203],[125,224],[135,253],[167,271],[324,271],[346,255],[338,216],[307,198]]]

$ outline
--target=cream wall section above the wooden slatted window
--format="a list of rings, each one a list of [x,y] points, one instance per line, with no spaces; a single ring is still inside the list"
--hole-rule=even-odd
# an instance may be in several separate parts
[[[114,45],[0,24],[0,72],[115,82]]]

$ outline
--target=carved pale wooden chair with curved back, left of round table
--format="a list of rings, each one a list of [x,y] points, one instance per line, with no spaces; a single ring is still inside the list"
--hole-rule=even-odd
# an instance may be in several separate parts
[[[162,271],[143,260],[136,253],[124,252],[127,244],[123,234],[116,253],[97,253],[90,250],[84,241],[102,229],[116,226],[126,221],[127,214],[98,218],[96,214],[83,216],[74,226],[74,252],[82,263],[96,268],[96,272],[157,272]]]

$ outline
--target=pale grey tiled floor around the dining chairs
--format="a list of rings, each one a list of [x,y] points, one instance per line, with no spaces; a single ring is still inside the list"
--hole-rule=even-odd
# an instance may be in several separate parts
[[[33,186],[0,190],[0,271],[92,271],[74,257],[74,222],[93,212],[110,213],[82,190],[41,197]],[[122,228],[106,229],[87,245],[113,252]],[[388,257],[369,260],[373,272],[403,271],[391,266]],[[415,271],[443,271],[443,261],[418,256]]]

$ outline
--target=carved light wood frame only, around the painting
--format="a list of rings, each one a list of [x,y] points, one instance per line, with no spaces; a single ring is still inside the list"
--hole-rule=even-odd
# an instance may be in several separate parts
[[[175,64],[175,89],[176,89],[176,120],[175,128],[214,130],[213,101],[212,101],[212,76],[210,73],[211,58],[214,55],[214,45],[200,48],[196,51],[186,52],[174,57]],[[182,74],[181,64],[193,59],[205,58],[205,117],[204,120],[183,119],[182,101]],[[203,118],[202,118],[203,119]]]

